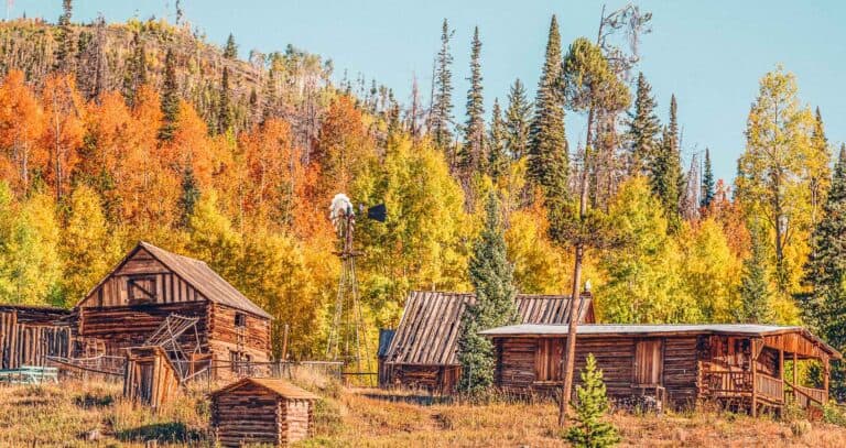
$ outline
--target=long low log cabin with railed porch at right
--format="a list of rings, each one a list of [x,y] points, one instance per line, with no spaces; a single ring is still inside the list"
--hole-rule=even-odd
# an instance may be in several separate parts
[[[496,384],[518,394],[554,394],[563,382],[567,327],[514,325],[481,331],[496,347]],[[593,353],[614,400],[648,395],[674,408],[713,401],[753,415],[780,412],[788,395],[805,407],[825,403],[829,361],[842,359],[802,327],[581,325],[577,338],[576,369]],[[785,376],[785,362],[810,361],[822,367],[821,387],[798,384],[795,374]]]

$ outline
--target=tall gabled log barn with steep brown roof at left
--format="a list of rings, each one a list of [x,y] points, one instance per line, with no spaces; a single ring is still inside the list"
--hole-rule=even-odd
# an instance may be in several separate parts
[[[140,242],[75,308],[77,353],[123,356],[140,347],[167,316],[197,318],[199,345],[227,378],[270,358],[271,316],[206,263]]]

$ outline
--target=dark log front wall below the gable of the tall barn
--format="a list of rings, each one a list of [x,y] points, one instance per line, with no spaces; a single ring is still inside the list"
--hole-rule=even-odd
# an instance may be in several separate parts
[[[197,334],[200,349],[208,349],[208,302],[178,304],[152,304],[140,306],[83,307],[78,309],[76,331],[82,339],[96,339],[105,345],[106,353],[126,354],[122,349],[142,345],[169,315],[175,313],[185,317],[198,317]],[[183,336],[185,342],[193,341],[193,331]]]

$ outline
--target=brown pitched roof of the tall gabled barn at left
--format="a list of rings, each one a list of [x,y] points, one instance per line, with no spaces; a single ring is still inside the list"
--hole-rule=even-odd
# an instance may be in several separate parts
[[[242,312],[253,314],[265,319],[272,319],[273,317],[268,312],[261,309],[258,305],[252,303],[247,296],[241,294],[235,286],[224,280],[217,272],[208,266],[204,261],[195,260],[189,256],[180,255],[173,252],[169,252],[162,248],[153,245],[147,241],[141,241],[132,249],[126,258],[107,275],[104,277],[97,286],[91,289],[96,291],[109,276],[116,271],[120,270],[123,264],[129,261],[139,250],[147,250],[155,260],[162,263],[165,267],[173,271],[176,275],[182,277],[185,282],[189,283],[195,289],[197,289],[208,301],[230,306]],[[90,292],[86,295],[86,298],[90,296]],[[79,303],[85,302],[85,298]],[[79,306],[77,304],[77,306]]]

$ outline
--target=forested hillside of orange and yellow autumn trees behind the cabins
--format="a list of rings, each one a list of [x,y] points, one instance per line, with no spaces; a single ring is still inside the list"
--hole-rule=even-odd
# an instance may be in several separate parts
[[[336,193],[387,205],[356,234],[375,332],[410,289],[470,288],[495,192],[522,293],[568,292],[578,244],[603,321],[804,321],[842,346],[825,315],[843,295],[846,160],[832,181],[822,114],[787,69],[749,98],[731,185],[708,151],[682,160],[684,110],[638,70],[650,17],[637,8],[604,15],[597,41],[561,42],[553,17],[540,79],[503,92],[484,89],[486,30],[454,42],[444,21],[431,99],[414,80],[401,105],[376,84],[336,86],[327,59],[290,46],[240,61],[231,36],[219,48],[184,23],[78,24],[65,7],[56,24],[0,24],[0,302],[73,306],[143,239],[206,260],[291,326],[293,356],[315,357],[339,275]],[[454,76],[471,84],[460,110]],[[585,134],[568,140],[567,113]]]

